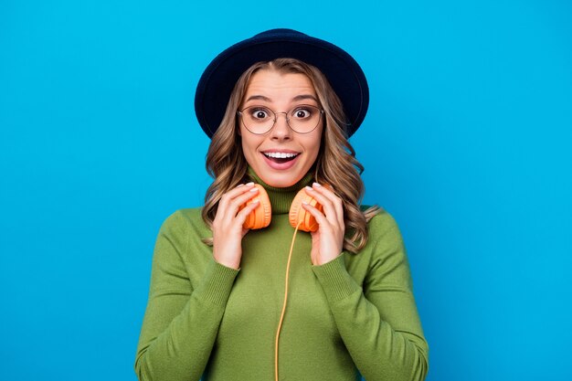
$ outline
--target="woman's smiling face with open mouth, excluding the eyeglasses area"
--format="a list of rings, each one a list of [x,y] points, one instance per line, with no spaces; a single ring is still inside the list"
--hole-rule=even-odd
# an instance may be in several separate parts
[[[262,135],[249,132],[239,122],[242,151],[254,172],[270,186],[296,184],[308,173],[320,151],[323,119],[312,132],[298,133],[288,126],[286,114],[279,113],[302,104],[320,107],[312,82],[305,75],[261,69],[250,78],[240,110],[264,106],[276,113],[277,120],[270,132]],[[272,157],[278,153],[294,155]]]

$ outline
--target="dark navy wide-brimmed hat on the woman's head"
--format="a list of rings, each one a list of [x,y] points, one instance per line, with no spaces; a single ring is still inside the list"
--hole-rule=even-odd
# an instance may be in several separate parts
[[[292,29],[270,29],[240,41],[207,66],[195,94],[196,119],[212,138],[222,122],[230,93],[246,69],[260,61],[296,58],[323,72],[344,105],[350,137],[364,121],[369,90],[364,71],[341,48]]]

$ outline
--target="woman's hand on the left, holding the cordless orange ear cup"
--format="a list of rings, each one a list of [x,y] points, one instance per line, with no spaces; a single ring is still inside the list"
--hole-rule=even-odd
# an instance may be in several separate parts
[[[259,190],[253,183],[238,185],[229,190],[218,201],[217,216],[213,221],[213,256],[221,265],[232,269],[240,267],[242,258],[242,238],[249,229],[242,225],[260,202],[253,201],[239,210],[250,198],[258,195]]]

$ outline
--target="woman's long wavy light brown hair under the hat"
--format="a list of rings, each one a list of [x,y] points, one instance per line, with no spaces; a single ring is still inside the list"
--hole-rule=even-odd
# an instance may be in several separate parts
[[[237,110],[250,78],[259,70],[303,74],[312,81],[325,115],[320,152],[312,166],[313,177],[318,183],[331,185],[335,194],[342,198],[346,232],[344,249],[357,253],[367,243],[367,222],[380,212],[380,208],[372,206],[362,211],[359,206],[365,191],[360,176],[364,166],[355,159],[354,148],[347,141],[344,129],[347,122],[342,102],[319,69],[294,58],[258,62],[238,79],[230,95],[225,116],[208,147],[207,173],[214,181],[205,195],[205,206],[202,209],[205,223],[212,228],[221,196],[238,184],[249,181],[248,163],[242,153],[238,135]],[[205,238],[204,241],[212,245],[212,238]]]

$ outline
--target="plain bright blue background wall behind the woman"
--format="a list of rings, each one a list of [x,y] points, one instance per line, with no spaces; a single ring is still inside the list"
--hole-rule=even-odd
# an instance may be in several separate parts
[[[271,27],[365,70],[351,143],[408,247],[428,380],[572,379],[572,5],[257,4],[0,3],[0,380],[135,380],[158,228],[210,183],[196,82]]]

